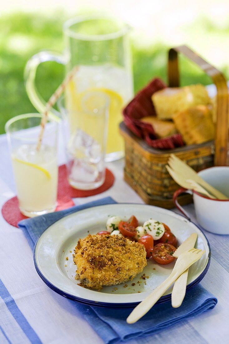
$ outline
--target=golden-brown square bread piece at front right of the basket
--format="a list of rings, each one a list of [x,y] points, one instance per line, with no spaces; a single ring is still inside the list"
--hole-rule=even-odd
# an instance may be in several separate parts
[[[213,140],[215,127],[210,107],[197,105],[173,116],[177,130],[186,144],[198,144]]]

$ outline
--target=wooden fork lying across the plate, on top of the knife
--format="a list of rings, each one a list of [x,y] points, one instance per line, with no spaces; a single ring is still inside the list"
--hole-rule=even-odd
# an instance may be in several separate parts
[[[182,253],[171,272],[171,275],[160,284],[152,293],[141,303],[135,307],[135,309],[130,313],[126,319],[128,324],[133,324],[138,321],[143,315],[145,315],[153,305],[160,299],[164,292],[175,282],[175,280],[192,264],[199,260],[205,251],[199,250],[197,248],[192,248],[191,250]]]

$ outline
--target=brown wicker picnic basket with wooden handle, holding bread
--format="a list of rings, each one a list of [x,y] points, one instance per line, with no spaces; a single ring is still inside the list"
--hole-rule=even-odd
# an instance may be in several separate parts
[[[124,179],[145,203],[173,208],[173,193],[180,188],[171,178],[165,165],[171,153],[200,171],[213,165],[228,164],[228,88],[225,77],[215,67],[204,61],[187,46],[169,50],[168,84],[179,86],[178,53],[183,53],[212,78],[217,88],[217,123],[214,141],[179,147],[170,150],[154,149],[134,135],[124,122],[120,124],[125,141]],[[180,196],[180,204],[191,202],[191,196]]]

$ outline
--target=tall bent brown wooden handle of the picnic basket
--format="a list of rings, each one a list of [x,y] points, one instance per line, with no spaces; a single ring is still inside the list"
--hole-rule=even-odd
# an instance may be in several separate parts
[[[203,60],[186,45],[181,45],[169,50],[168,81],[170,87],[178,87],[180,84],[178,53],[187,56],[195,62],[202,71],[211,77],[217,89],[217,122],[215,137],[215,165],[227,165],[228,150],[228,88],[225,77],[218,69]]]

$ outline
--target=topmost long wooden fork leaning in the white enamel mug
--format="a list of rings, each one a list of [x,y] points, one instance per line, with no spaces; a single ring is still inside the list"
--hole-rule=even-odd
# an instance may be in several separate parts
[[[175,172],[182,174],[186,179],[192,179],[202,185],[208,192],[215,196],[214,198],[218,198],[219,200],[228,200],[227,196],[215,189],[215,187],[209,183],[205,182],[205,180],[203,180],[196,171],[194,171],[184,161],[176,157],[176,155],[170,154],[168,164]]]

